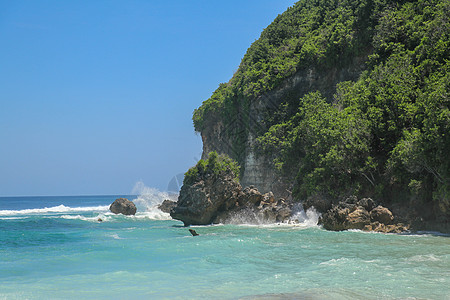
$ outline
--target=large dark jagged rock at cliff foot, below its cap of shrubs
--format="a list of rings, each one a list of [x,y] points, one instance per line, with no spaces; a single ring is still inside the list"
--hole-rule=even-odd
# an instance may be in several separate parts
[[[292,204],[276,200],[273,193],[261,194],[255,187],[242,186],[228,176],[209,176],[183,185],[172,218],[185,226],[212,223],[276,223],[287,221]]]

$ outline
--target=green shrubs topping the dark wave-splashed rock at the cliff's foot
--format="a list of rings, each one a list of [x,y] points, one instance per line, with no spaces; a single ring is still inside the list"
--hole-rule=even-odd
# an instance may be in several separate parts
[[[239,180],[239,165],[225,154],[210,152],[206,160],[200,159],[195,166],[184,174],[183,184],[192,185],[207,175],[230,175]]]

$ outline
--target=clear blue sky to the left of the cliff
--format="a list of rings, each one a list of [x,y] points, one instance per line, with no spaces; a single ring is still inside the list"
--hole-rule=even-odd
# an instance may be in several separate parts
[[[0,196],[167,190],[192,112],[288,0],[0,0]]]

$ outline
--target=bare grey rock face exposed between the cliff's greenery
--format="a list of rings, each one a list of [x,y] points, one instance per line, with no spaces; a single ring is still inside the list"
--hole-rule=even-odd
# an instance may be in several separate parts
[[[366,61],[367,55],[362,55],[340,68],[302,68],[274,90],[252,99],[244,115],[234,116],[226,125],[220,119],[209,123],[201,131],[202,158],[205,159],[212,151],[225,153],[241,165],[243,187],[254,185],[262,193],[273,192],[276,197],[289,197],[296,174],[282,175],[275,169],[273,156],[258,151],[256,139],[261,132],[268,130],[265,119],[287,100],[296,101],[312,91],[320,91],[329,102],[333,101],[336,84],[356,80],[365,70]],[[244,147],[236,147],[235,140],[244,140]]]

